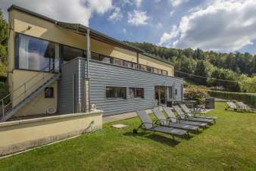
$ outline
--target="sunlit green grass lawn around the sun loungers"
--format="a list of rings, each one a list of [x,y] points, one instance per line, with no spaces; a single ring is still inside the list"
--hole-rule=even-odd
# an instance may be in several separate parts
[[[139,131],[139,118],[0,160],[0,170],[256,170],[256,114],[225,111],[217,123],[189,140]]]

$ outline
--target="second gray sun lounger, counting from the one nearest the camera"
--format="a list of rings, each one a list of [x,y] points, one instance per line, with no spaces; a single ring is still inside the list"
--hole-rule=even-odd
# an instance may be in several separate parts
[[[176,129],[183,129],[186,131],[198,133],[198,126],[186,125],[177,122],[173,123],[170,119],[166,119],[166,117],[164,117],[164,115],[161,114],[161,111],[158,108],[152,109],[152,112],[155,114],[155,117],[158,118],[158,121],[161,124],[161,126],[168,126]]]

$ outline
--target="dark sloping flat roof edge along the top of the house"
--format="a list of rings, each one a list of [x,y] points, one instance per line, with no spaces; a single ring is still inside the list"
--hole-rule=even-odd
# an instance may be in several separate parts
[[[68,29],[68,30],[76,30],[80,33],[86,33],[87,30],[89,29],[93,39],[98,39],[98,40],[103,41],[103,42],[110,42],[110,43],[113,43],[115,45],[120,46],[121,48],[126,48],[130,51],[136,51],[139,54],[143,54],[143,55],[145,55],[149,58],[152,58],[152,59],[155,59],[155,60],[162,61],[164,63],[173,65],[170,61],[166,61],[166,60],[164,60],[164,59],[162,59],[162,58],[160,58],[160,57],[158,57],[154,54],[148,54],[148,52],[144,51],[142,48],[138,48],[136,46],[129,45],[125,42],[121,42],[117,39],[112,38],[111,36],[105,35],[104,33],[100,33],[97,30],[93,30],[93,29],[89,28],[88,26],[84,26],[83,24],[80,24],[80,23],[65,23],[65,22],[61,22],[61,21],[58,21],[58,20],[54,20],[54,19],[46,17],[42,14],[38,14],[36,12],[27,10],[26,8],[19,7],[17,5],[11,5],[11,7],[8,8],[8,11],[11,11],[12,9],[15,9],[17,11],[21,11],[21,12],[26,13],[26,14],[33,15],[35,17],[39,17],[40,19],[43,19],[43,20],[48,20],[49,22],[55,23],[56,25],[64,27],[65,29]]]

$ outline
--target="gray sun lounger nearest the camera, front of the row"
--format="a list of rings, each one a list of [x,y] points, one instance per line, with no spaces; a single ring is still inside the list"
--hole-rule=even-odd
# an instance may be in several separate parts
[[[142,124],[138,127],[138,129],[145,129],[152,132],[163,132],[167,133],[173,136],[179,136],[179,137],[189,137],[189,132],[181,129],[173,129],[166,126],[160,126],[158,122],[153,122],[150,117],[148,116],[148,113],[145,112],[145,110],[138,110],[136,113],[139,116],[139,119],[142,121]],[[157,120],[158,121],[158,120]],[[133,133],[137,133],[138,129],[133,129]]]

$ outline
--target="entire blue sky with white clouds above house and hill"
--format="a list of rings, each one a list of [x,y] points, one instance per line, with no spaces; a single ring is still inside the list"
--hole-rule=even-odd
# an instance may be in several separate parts
[[[119,40],[256,54],[255,0],[1,0]]]

